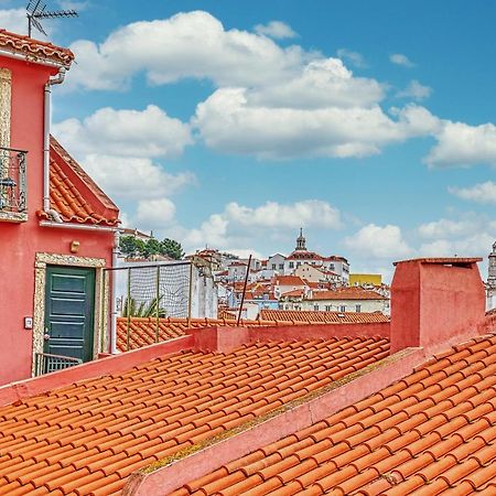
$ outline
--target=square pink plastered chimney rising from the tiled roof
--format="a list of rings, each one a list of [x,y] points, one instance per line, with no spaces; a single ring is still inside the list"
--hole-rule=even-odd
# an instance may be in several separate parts
[[[419,258],[396,262],[391,283],[391,353],[436,347],[477,334],[485,316],[482,258]]]

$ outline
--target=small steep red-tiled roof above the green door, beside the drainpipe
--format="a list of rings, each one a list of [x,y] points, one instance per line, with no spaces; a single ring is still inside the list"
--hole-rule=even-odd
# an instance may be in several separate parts
[[[50,155],[50,201],[62,220],[116,226],[118,207],[53,137]],[[39,215],[48,218],[45,212]]]

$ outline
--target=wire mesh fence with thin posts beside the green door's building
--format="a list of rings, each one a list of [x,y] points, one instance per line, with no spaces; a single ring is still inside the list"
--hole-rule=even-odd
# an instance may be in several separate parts
[[[160,339],[160,322],[165,317],[191,319],[193,265],[190,261],[136,265],[105,269],[104,292],[110,301],[110,325],[126,320],[126,351],[131,349],[132,321],[148,319],[154,343]],[[108,320],[107,320],[108,322]]]

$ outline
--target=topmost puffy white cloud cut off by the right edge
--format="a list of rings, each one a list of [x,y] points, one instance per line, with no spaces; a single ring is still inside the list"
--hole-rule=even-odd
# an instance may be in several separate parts
[[[435,138],[438,143],[424,160],[430,166],[496,166],[496,126],[490,122],[468,126],[444,121]]]

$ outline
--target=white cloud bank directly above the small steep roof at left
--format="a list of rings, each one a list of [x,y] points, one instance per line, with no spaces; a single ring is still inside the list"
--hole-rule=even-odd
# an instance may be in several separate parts
[[[190,127],[155,106],[144,110],[103,108],[91,116],[53,126],[54,136],[97,184],[143,229],[170,223],[169,198],[195,182],[190,172],[171,174],[159,160],[180,154],[192,143]],[[129,202],[133,207],[128,208]]]

